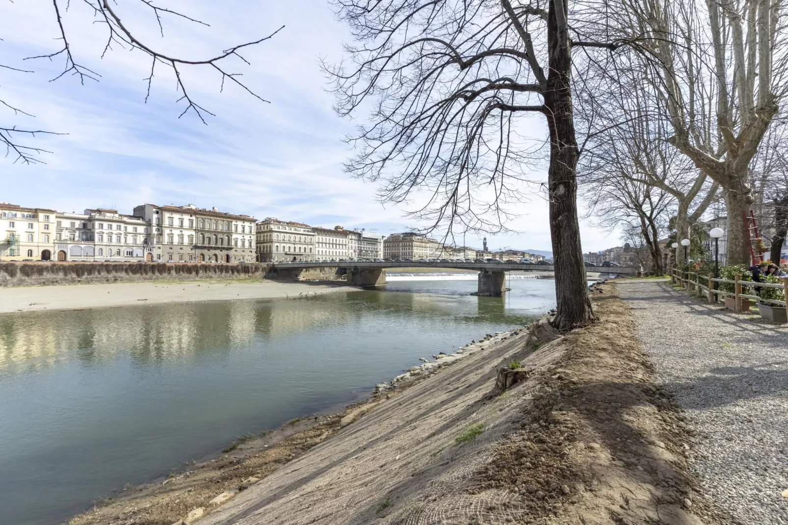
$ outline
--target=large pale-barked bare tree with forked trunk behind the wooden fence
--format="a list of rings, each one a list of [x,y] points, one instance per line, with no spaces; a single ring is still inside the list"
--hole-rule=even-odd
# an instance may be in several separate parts
[[[730,263],[749,260],[749,165],[785,96],[781,0],[620,0],[621,38],[637,35],[638,71],[671,144],[723,190]]]

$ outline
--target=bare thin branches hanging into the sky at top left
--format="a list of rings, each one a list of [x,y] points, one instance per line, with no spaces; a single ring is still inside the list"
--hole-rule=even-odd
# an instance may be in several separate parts
[[[247,50],[249,47],[255,46],[258,43],[265,42],[266,40],[272,38],[273,35],[276,35],[277,32],[281,31],[282,27],[284,26],[278,28],[269,35],[263,36],[260,39],[229,47],[229,49],[223,50],[221,53],[218,53],[213,57],[188,59],[165,54],[161,50],[158,50],[153,43],[149,43],[144,39],[139,38],[138,31],[136,29],[128,27],[126,24],[124,24],[124,22],[121,21],[120,13],[122,13],[124,8],[133,8],[134,6],[142,6],[144,9],[149,9],[151,13],[151,24],[154,24],[154,27],[158,28],[162,37],[164,36],[164,26],[162,25],[163,17],[180,18],[189,20],[195,24],[203,24],[207,26],[208,24],[205,22],[188,17],[186,14],[179,13],[173,9],[158,6],[154,4],[153,0],[129,0],[122,3],[109,2],[108,0],[82,0],[80,5],[87,6],[88,9],[86,13],[90,14],[93,20],[95,20],[95,23],[98,24],[99,27],[103,28],[103,31],[105,32],[106,42],[101,50],[102,58],[104,58],[110,51],[117,49],[133,50],[147,55],[147,58],[151,61],[151,72],[150,75],[145,79],[147,82],[147,94],[145,95],[146,102],[148,97],[151,95],[151,86],[154,80],[154,75],[157,72],[157,66],[159,66],[159,68],[164,67],[173,73],[176,89],[180,93],[180,99],[178,99],[177,102],[184,103],[184,110],[179,117],[192,112],[199,118],[200,121],[205,123],[206,115],[213,115],[209,110],[206,110],[205,107],[200,106],[199,102],[193,98],[191,91],[188,89],[188,86],[184,81],[184,77],[181,73],[185,67],[189,66],[203,66],[212,69],[215,73],[217,73],[217,76],[219,76],[220,90],[223,90],[225,87],[225,82],[228,82],[229,84],[234,84],[237,87],[240,87],[243,91],[247,91],[249,95],[252,95],[256,99],[259,99],[262,102],[268,102],[262,99],[255,93],[255,91],[252,91],[250,87],[240,80],[240,73],[232,73],[229,69],[227,69],[227,67],[232,64],[233,58],[248,65],[249,62],[243,58],[240,53],[244,50]],[[76,79],[78,79],[81,84],[89,81],[98,81],[101,75],[94,70],[82,65],[82,62],[80,62],[76,57],[76,51],[70,43],[69,28],[64,17],[65,12],[69,9],[69,6],[69,0],[52,0],[52,16],[58,24],[58,36],[55,39],[59,42],[58,47],[52,50],[51,53],[27,57],[24,58],[24,61],[35,61],[40,59],[61,61],[63,69],[61,70],[61,73],[59,73],[58,76],[52,80],[58,80],[63,76],[73,76],[76,77]],[[15,67],[9,64],[0,64],[0,69],[6,71],[6,73],[33,73],[28,67]],[[3,99],[0,99],[0,106],[4,107],[6,110],[9,110],[13,116],[20,114],[32,116],[24,110],[21,110],[12,102],[7,102]],[[0,125],[0,144],[6,147],[6,157],[12,156],[15,162],[41,162],[39,154],[46,151],[31,145],[29,142],[25,142],[24,137],[31,138],[43,133],[52,134],[53,132],[35,130],[32,128],[20,128],[13,124]]]

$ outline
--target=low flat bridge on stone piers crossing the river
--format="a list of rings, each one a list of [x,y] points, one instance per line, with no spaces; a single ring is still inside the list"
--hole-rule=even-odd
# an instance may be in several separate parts
[[[326,261],[326,262],[301,262],[273,263],[272,273],[276,277],[296,281],[322,281],[340,275],[347,275],[348,283],[364,288],[375,288],[386,284],[385,270],[391,268],[435,268],[449,270],[474,270],[478,271],[478,293],[485,296],[500,296],[506,289],[506,272],[540,272],[552,274],[553,266],[548,264],[522,264],[522,263],[476,263],[465,261],[439,261],[419,263],[417,261],[376,263],[374,261]],[[589,269],[587,269],[589,270]],[[597,270],[597,267],[594,267]],[[637,275],[634,268],[624,267],[599,267],[593,274],[603,278],[617,277],[619,275]]]

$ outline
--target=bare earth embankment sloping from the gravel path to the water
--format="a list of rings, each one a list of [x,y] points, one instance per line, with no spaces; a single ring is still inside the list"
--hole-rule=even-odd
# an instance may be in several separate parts
[[[595,306],[594,326],[487,337],[282,447],[229,447],[70,523],[728,523],[688,472],[691,429],[615,286]],[[502,392],[506,367],[523,377]]]

